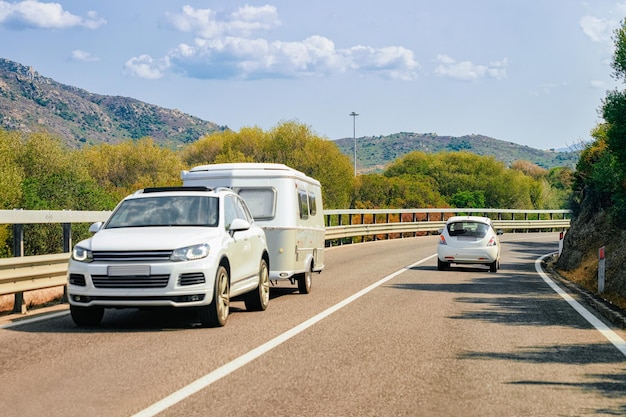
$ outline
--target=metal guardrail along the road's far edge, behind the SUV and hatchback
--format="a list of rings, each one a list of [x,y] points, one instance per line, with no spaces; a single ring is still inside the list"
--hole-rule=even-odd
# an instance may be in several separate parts
[[[105,221],[110,211],[44,211],[0,210],[0,224],[35,223],[93,223]],[[570,227],[569,210],[502,210],[502,209],[387,209],[387,210],[325,210],[326,241],[345,243],[347,239],[369,236],[373,239],[403,237],[407,234],[433,233],[445,226],[445,218],[467,214],[496,217],[496,229],[504,230],[564,230]],[[561,217],[555,219],[554,216]],[[384,217],[384,222],[377,222]],[[409,217],[410,221],[403,221]],[[418,220],[422,217],[423,220]],[[437,220],[431,220],[437,217]],[[503,217],[510,217],[504,219]],[[523,217],[523,219],[515,219]],[[536,217],[536,219],[531,219]],[[548,219],[541,219],[548,217]],[[345,219],[349,224],[343,224]],[[355,220],[358,220],[356,222]],[[64,233],[70,228],[64,227]],[[64,241],[71,241],[64,236]],[[69,250],[69,249],[68,249]],[[15,294],[13,311],[24,313],[23,292],[63,286],[67,280],[69,253],[24,256],[0,259],[0,295]]]

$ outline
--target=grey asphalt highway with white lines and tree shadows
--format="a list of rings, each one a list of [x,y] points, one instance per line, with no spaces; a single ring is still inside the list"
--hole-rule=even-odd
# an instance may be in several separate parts
[[[626,415],[626,331],[536,270],[558,233],[505,234],[497,273],[437,271],[437,240],[327,249],[311,294],[235,301],[223,328],[171,310],[0,328],[0,415]]]

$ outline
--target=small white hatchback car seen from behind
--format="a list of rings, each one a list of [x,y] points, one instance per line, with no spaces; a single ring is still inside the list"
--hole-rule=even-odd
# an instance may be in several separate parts
[[[439,236],[437,269],[448,269],[450,264],[482,264],[496,272],[500,268],[501,234],[488,217],[449,218]]]

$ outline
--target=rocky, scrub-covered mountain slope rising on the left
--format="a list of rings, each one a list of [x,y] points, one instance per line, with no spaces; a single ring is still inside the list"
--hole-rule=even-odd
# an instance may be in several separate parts
[[[71,147],[150,136],[168,147],[226,129],[179,110],[127,97],[92,94],[0,58],[0,127],[45,130]]]

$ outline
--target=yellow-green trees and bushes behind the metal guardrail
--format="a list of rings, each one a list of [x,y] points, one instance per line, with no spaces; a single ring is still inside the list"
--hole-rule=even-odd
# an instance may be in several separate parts
[[[317,178],[325,208],[563,208],[573,172],[527,161],[510,167],[469,152],[412,152],[382,173],[354,176],[350,158],[310,127],[283,122],[269,131],[221,131],[173,150],[146,137],[73,149],[62,138],[0,130],[0,209],[111,210],[150,186],[180,185],[193,166],[275,162]],[[88,235],[73,226],[73,241]],[[26,225],[25,254],[58,253],[61,225]],[[1,256],[12,255],[12,228],[0,225]]]

